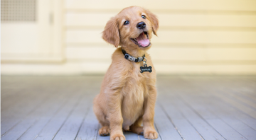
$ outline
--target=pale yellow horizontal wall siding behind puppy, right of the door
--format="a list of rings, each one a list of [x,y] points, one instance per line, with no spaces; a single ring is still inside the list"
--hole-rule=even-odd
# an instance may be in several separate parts
[[[255,71],[256,1],[66,0],[67,60],[110,63],[115,48],[102,40],[102,30],[131,4],[159,18],[158,37],[149,50],[158,74]]]

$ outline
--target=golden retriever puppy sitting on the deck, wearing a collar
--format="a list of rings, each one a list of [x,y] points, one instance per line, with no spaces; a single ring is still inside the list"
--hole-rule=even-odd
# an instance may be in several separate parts
[[[146,139],[157,139],[156,71],[146,50],[158,28],[156,16],[139,6],[124,8],[107,22],[102,38],[117,49],[100,94],[94,99],[93,110],[102,124],[101,136],[110,134],[111,140],[124,140],[124,129],[144,134]]]

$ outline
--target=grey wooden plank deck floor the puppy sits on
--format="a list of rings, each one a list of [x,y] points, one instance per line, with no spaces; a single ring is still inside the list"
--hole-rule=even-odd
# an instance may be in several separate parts
[[[101,81],[1,76],[1,139],[110,139],[97,134],[92,111]],[[159,76],[157,85],[159,139],[256,139],[256,76]]]

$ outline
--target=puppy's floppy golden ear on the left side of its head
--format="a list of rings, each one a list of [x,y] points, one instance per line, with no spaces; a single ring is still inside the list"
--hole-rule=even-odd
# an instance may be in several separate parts
[[[105,29],[102,33],[103,40],[114,45],[114,47],[118,47],[120,37],[116,18],[113,17],[110,19],[110,21],[107,22]]]

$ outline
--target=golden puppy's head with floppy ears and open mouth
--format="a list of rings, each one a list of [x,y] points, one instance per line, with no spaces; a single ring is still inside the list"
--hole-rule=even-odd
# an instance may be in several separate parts
[[[149,49],[152,34],[156,35],[159,21],[150,11],[131,6],[124,8],[105,26],[102,38],[110,44],[129,49]]]

